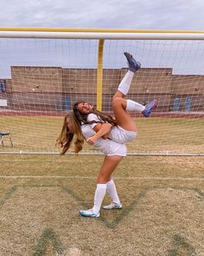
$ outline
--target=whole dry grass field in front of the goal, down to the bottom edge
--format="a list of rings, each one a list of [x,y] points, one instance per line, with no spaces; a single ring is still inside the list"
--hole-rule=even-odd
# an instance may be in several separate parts
[[[203,157],[127,156],[114,174],[123,209],[82,218],[102,161],[0,155],[0,255],[204,255]]]

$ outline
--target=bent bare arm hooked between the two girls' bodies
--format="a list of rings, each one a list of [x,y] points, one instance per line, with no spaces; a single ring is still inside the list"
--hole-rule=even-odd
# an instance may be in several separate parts
[[[106,139],[111,132],[112,124],[106,122],[98,123],[93,129],[96,132],[96,135],[93,135],[86,140],[86,142],[90,145],[92,145],[99,138]]]

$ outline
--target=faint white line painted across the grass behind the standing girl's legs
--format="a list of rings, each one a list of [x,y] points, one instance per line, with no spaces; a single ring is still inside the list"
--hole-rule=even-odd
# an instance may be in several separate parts
[[[76,180],[96,180],[94,176],[54,176],[54,175],[41,175],[41,176],[29,176],[29,175],[0,175],[0,179],[76,179]],[[114,180],[132,180],[132,181],[141,181],[141,180],[152,180],[152,181],[204,181],[204,178],[200,177],[115,177]]]

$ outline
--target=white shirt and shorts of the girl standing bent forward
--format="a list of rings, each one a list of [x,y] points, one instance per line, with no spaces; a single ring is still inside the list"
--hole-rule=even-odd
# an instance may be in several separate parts
[[[86,140],[96,134],[90,124],[81,125],[81,131]],[[98,148],[105,155],[125,156],[127,153],[127,148],[124,144],[109,139],[98,139],[93,146]]]

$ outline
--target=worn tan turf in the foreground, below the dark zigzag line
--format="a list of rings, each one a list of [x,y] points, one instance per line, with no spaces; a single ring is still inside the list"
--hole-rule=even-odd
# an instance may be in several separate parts
[[[143,187],[94,220],[78,213],[92,203],[83,196],[68,186],[11,187],[0,201],[1,256],[204,254],[199,189]]]

